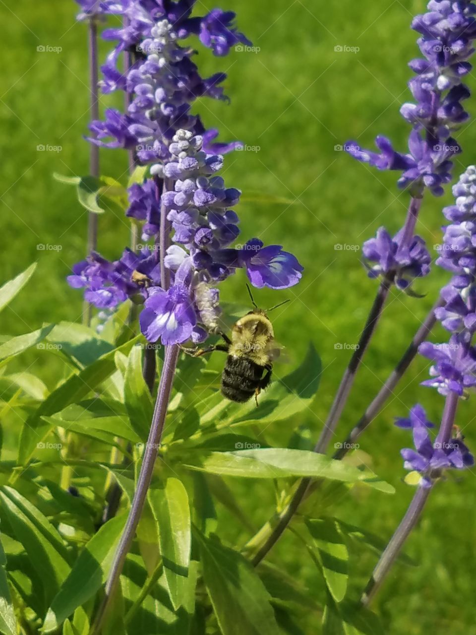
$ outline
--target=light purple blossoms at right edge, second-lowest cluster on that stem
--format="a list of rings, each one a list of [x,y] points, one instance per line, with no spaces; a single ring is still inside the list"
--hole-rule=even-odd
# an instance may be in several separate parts
[[[476,352],[464,334],[453,335],[445,344],[424,342],[418,352],[434,362],[432,379],[422,385],[436,388],[442,395],[456,392],[459,396],[476,385]]]

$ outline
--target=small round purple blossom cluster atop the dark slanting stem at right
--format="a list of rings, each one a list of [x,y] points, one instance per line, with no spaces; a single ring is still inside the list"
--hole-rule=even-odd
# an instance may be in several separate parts
[[[376,237],[364,243],[362,252],[367,260],[369,277],[395,274],[396,286],[406,290],[415,278],[428,275],[431,257],[423,238],[414,236],[407,248],[401,244],[402,237],[402,231],[392,238],[385,227],[380,227]]]

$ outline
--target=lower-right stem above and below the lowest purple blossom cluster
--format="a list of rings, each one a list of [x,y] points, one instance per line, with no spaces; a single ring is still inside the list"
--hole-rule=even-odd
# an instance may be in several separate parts
[[[437,442],[439,443],[448,443],[451,438],[456,408],[458,408],[458,400],[459,397],[456,392],[450,392],[446,398],[440,431],[437,436]],[[372,577],[367,583],[366,590],[360,599],[362,605],[368,606],[379,591],[395,559],[397,559],[404,542],[416,526],[416,523],[418,523],[426,500],[428,500],[428,496],[430,495],[430,491],[432,491],[431,487],[425,488],[421,486],[416,490],[405,516],[392,538],[390,538],[390,542],[387,547],[385,547],[385,551],[381,554],[380,560],[374,568]]]

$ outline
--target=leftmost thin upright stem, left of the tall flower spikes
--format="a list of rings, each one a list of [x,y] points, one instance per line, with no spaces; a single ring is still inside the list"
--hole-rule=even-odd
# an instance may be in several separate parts
[[[90,94],[90,120],[99,119],[98,97],[98,27],[94,15],[88,22],[88,48],[89,48],[89,94]],[[100,176],[99,147],[89,144],[89,173],[93,177]],[[86,255],[94,251],[98,244],[98,215],[90,211],[88,213],[88,241],[86,243]],[[83,323],[89,326],[93,307],[89,302],[84,302]]]

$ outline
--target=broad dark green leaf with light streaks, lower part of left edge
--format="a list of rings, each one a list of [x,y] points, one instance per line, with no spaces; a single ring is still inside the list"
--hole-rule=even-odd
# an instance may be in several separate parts
[[[44,599],[48,603],[70,572],[67,552],[62,538],[53,525],[18,491],[4,486],[0,501],[15,538],[28,554],[44,585]]]

